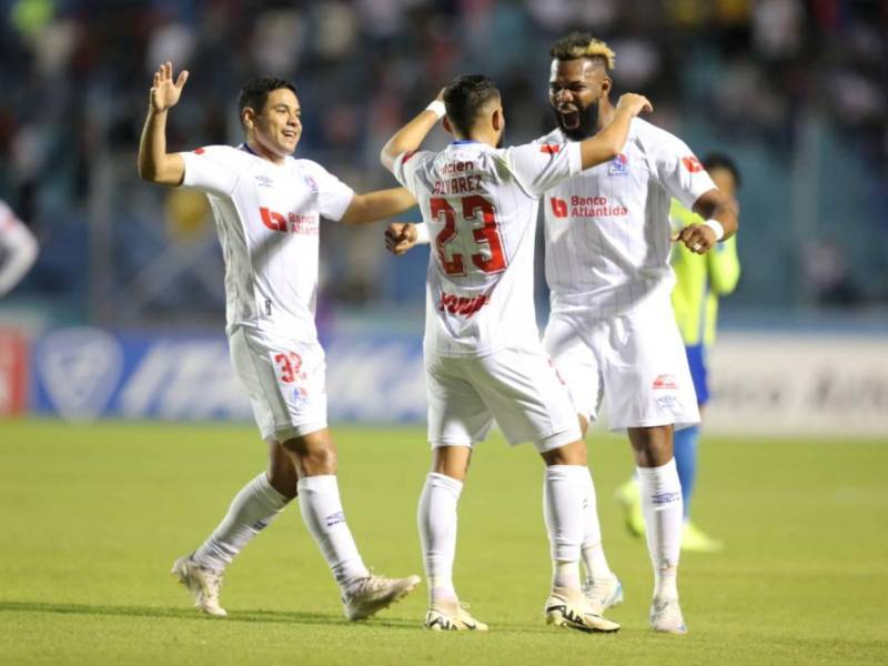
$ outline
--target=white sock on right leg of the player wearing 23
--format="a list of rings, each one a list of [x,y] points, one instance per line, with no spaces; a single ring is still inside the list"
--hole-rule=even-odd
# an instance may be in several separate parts
[[[579,547],[583,542],[583,501],[588,470],[579,465],[549,465],[543,483],[543,516],[552,554],[552,586],[579,588]]]

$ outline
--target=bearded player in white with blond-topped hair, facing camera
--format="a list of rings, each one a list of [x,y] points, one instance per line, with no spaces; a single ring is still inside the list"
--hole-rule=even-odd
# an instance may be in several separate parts
[[[551,56],[549,102],[558,128],[538,143],[571,145],[601,131],[614,113],[608,99],[614,52],[575,32],[555,42]],[[706,222],[672,239],[672,198]],[[737,211],[680,139],[640,119],[632,122],[619,155],[552,188],[543,210],[552,305],[543,343],[581,415],[596,418],[606,394],[610,428],[628,432],[655,574],[650,625],[684,634],[676,583],[682,490],[673,428],[698,423],[699,413],[669,300],[670,242],[708,252],[736,232]],[[601,543],[597,515],[586,531],[584,543]],[[606,559],[589,557],[585,564],[593,607],[620,601]]]

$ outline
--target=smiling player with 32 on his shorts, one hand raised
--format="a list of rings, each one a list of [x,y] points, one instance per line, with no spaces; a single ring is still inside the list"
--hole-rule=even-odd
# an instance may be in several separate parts
[[[224,616],[222,574],[296,495],[302,517],[340,587],[349,619],[400,599],[418,576],[373,576],[345,522],[336,448],[326,423],[324,352],[314,323],[321,216],[361,224],[415,204],[403,188],[356,194],[320,164],[293,159],[302,124],[295,88],[260,78],[238,100],[245,141],[167,152],[167,113],[188,79],[167,62],[154,74],[139,145],[139,173],[206,193],[225,260],[226,333],[234,369],[269,443],[268,472],[234,497],[228,514],[173,574],[204,613]],[[212,390],[212,389],[208,389]]]

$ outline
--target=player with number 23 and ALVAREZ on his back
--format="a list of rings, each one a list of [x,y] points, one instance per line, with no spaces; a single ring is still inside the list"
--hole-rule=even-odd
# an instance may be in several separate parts
[[[383,148],[383,164],[416,196],[435,245],[423,341],[433,464],[417,511],[430,629],[487,628],[461,606],[453,561],[472,447],[494,418],[511,444],[532,441],[546,464],[547,622],[586,632],[619,628],[593,613],[581,589],[583,504],[592,484],[576,408],[536,329],[534,236],[539,196],[613,159],[629,120],[645,108],[644,97],[627,94],[610,124],[588,141],[501,150],[500,93],[486,77],[466,75]],[[445,111],[444,127],[456,141],[440,153],[417,151]]]

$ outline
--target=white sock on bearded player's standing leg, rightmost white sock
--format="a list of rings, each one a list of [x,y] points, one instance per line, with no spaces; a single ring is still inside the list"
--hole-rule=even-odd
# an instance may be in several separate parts
[[[682,551],[682,484],[675,460],[659,467],[637,467],[647,549],[654,565],[654,597],[677,598]]]

